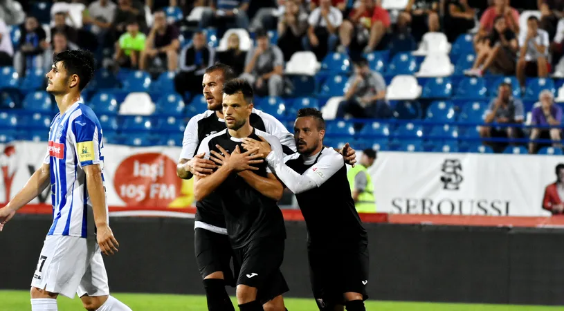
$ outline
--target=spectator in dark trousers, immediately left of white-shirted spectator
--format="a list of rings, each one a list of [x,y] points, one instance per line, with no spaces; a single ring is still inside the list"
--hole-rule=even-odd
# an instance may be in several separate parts
[[[307,13],[299,0],[286,0],[284,15],[278,21],[278,46],[288,62],[293,53],[302,50],[302,38],[307,31]]]

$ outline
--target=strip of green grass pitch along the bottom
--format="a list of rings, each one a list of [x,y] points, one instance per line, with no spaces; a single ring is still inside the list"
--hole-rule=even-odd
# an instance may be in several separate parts
[[[206,297],[165,294],[115,294],[117,299],[129,305],[133,311],[207,311]],[[59,311],[82,309],[80,299],[60,297]],[[289,311],[316,311],[312,299],[286,298]],[[235,301],[234,301],[235,302]],[[29,292],[0,290],[0,311],[31,310]],[[535,305],[475,305],[464,303],[407,303],[394,301],[367,301],[368,311],[556,311],[562,307],[541,307]]]

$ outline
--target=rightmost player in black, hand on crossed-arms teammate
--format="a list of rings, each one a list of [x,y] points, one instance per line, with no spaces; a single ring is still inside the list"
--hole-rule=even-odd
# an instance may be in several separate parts
[[[343,157],[323,147],[324,136],[321,112],[305,108],[294,124],[298,153],[284,159],[280,143],[264,139],[244,138],[243,147],[258,149],[298,199],[309,233],[310,279],[319,309],[343,310],[345,305],[348,311],[364,311],[367,234],[354,208]]]

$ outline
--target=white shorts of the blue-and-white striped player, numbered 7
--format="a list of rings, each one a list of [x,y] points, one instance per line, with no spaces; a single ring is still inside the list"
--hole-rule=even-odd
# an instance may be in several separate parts
[[[31,286],[74,298],[109,295],[100,246],[93,238],[47,236]]]

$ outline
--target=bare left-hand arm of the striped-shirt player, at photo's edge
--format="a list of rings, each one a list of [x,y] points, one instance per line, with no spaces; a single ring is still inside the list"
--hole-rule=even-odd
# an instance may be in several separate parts
[[[29,178],[28,182],[5,207],[0,209],[0,231],[12,219],[18,209],[24,207],[31,200],[39,196],[50,184],[50,165],[42,164]]]

